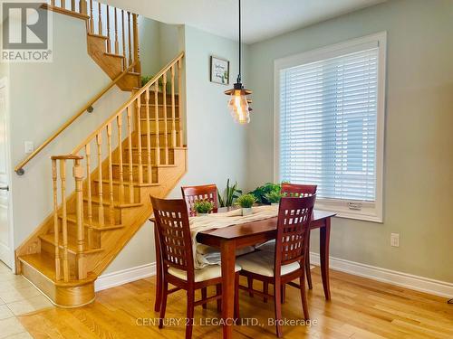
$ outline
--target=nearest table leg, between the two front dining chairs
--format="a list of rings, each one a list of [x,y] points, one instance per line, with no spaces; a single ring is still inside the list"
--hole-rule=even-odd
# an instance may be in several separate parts
[[[235,241],[222,241],[220,250],[222,258],[222,317],[226,323],[223,327],[223,337],[229,339],[233,337],[232,322],[235,316]]]

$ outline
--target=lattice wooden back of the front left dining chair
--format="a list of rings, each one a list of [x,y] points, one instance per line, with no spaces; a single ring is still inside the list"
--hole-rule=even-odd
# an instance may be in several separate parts
[[[188,281],[194,278],[192,239],[188,224],[188,208],[182,199],[166,200],[151,197],[152,209],[159,234],[161,262],[187,272]]]

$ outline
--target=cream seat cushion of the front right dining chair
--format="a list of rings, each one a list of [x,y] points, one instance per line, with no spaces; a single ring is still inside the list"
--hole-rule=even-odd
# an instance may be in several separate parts
[[[254,253],[246,254],[245,256],[236,259],[236,263],[241,266],[243,270],[259,274],[265,277],[274,277],[274,252],[270,251],[256,251]],[[298,262],[292,262],[281,267],[280,275],[294,272],[300,268]]]

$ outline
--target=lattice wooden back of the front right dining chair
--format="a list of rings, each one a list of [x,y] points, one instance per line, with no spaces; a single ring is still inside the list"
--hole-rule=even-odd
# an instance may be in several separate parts
[[[310,221],[316,194],[308,197],[284,197],[280,201],[275,240],[275,275],[281,266],[298,261],[304,268]]]

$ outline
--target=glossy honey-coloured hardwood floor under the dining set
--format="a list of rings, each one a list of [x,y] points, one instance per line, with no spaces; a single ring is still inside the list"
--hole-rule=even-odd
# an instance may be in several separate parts
[[[168,321],[182,319],[180,324],[159,331],[159,315],[153,311],[154,282],[147,278],[101,291],[90,306],[47,309],[19,319],[34,338],[183,338],[184,292],[171,294],[167,306]],[[453,337],[453,306],[444,298],[336,271],[331,273],[331,284],[332,301],[326,302],[319,268],[313,268],[313,290],[308,292],[313,325],[285,325],[284,338]],[[275,326],[267,325],[274,316],[272,301],[265,304],[241,291],[240,311],[244,321],[255,318],[259,325],[236,325],[235,338],[275,338]],[[301,298],[293,287],[286,289],[283,317],[302,319]],[[219,318],[215,302],[206,310],[196,307],[194,338],[221,338],[221,326],[201,323],[208,318]],[[154,319],[156,324],[149,324]]]

